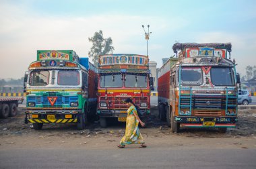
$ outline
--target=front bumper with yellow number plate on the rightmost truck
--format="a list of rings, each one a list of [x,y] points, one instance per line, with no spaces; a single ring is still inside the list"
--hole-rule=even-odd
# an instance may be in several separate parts
[[[181,117],[175,116],[181,127],[236,127],[237,117]]]

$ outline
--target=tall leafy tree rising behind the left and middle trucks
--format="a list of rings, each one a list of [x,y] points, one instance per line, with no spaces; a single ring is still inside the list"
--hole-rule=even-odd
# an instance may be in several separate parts
[[[103,38],[102,30],[95,32],[92,38],[88,38],[89,42],[92,42],[92,48],[88,53],[89,57],[92,58],[95,66],[98,66],[98,56],[102,54],[112,54],[115,48],[111,46],[113,44],[111,38]]]

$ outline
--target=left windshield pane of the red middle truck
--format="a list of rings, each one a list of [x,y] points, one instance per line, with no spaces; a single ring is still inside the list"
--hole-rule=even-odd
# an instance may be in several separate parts
[[[122,74],[101,75],[100,87],[123,87]]]

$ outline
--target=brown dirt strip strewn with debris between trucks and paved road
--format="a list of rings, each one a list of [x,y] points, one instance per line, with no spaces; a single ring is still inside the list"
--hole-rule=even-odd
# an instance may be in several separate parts
[[[152,115],[145,119],[147,127],[140,128],[141,133],[150,144],[166,144],[170,146],[209,145],[218,142],[216,146],[235,146],[240,148],[256,148],[256,110],[239,110],[236,128],[230,128],[226,133],[218,129],[181,129],[172,133],[166,122],[158,119],[157,108],[152,109]],[[22,148],[26,146],[84,146],[90,148],[105,145],[117,145],[125,132],[125,123],[110,121],[108,127],[102,128],[98,121],[90,122],[86,129],[78,131],[75,124],[44,124],[42,130],[32,129],[32,125],[24,123],[24,113],[17,116],[0,119],[0,148]],[[196,142],[195,142],[196,140]],[[207,142],[207,144],[205,144]],[[199,144],[200,143],[200,144]],[[231,144],[230,144],[231,143]]]

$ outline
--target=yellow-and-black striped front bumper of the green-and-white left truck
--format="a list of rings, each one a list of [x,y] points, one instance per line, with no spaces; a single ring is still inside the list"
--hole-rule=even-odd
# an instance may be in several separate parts
[[[77,123],[79,113],[77,110],[26,110],[30,123]]]

